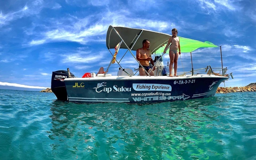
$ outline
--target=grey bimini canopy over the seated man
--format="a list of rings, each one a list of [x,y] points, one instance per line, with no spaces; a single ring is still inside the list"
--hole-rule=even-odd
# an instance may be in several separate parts
[[[121,44],[120,48],[127,49],[125,45],[127,44],[127,46],[132,51],[136,51],[138,48],[142,48],[142,41],[144,39],[148,39],[150,42],[150,51],[155,52],[158,48],[166,44],[171,36],[168,34],[150,31],[146,29],[109,26],[106,37],[106,45],[108,49],[115,48],[116,45],[121,41],[121,38],[118,36],[114,29],[124,40],[124,43]]]

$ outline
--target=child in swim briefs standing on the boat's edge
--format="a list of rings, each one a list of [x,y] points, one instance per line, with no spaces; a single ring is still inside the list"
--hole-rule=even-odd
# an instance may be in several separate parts
[[[169,56],[170,56],[170,77],[172,77],[172,65],[174,62],[174,76],[177,76],[177,66],[178,66],[178,57],[180,53],[180,38],[177,37],[178,30],[176,28],[172,29],[172,36],[170,37],[168,44],[165,46],[164,53],[166,53],[166,49],[170,46]],[[179,54],[178,54],[179,49]]]

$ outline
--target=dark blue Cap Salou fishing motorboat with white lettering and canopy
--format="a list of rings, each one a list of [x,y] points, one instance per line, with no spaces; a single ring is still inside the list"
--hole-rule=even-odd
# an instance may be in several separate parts
[[[164,53],[158,56],[156,60],[155,76],[150,76],[148,72],[146,72],[148,76],[138,76],[134,73],[136,69],[122,67],[121,60],[127,53],[131,53],[134,61],[137,61],[140,65],[132,51],[141,48],[144,39],[150,41],[149,49],[153,54],[161,48],[163,50],[163,46],[167,44],[170,36],[146,29],[109,26],[106,46],[113,58],[110,60],[105,73],[97,76],[95,73],[91,73],[85,77],[76,77],[69,69],[54,71],[52,72],[52,92],[58,100],[68,100],[75,103],[124,102],[150,104],[214,96],[219,85],[229,78],[229,76],[224,76],[227,68],[223,68],[223,66],[218,68],[222,72],[220,76],[206,73],[197,74],[196,71],[198,70],[206,72],[208,69],[212,73],[213,68],[209,65],[205,68],[194,69],[191,52],[191,71],[174,77],[164,76],[162,71],[166,66],[157,63]],[[182,53],[191,51],[189,48],[195,50],[200,47],[218,47],[208,42],[182,37],[180,37],[180,46]],[[113,49],[115,49],[115,53],[111,52]],[[116,54],[119,49],[124,49],[126,52],[124,52],[124,55],[118,55],[122,58],[117,61]],[[115,61],[119,68],[117,74],[108,74],[109,68]],[[233,78],[232,74],[230,76]]]

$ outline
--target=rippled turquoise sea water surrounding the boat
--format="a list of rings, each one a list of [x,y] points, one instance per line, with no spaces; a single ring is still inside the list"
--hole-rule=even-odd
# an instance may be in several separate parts
[[[0,159],[256,159],[256,92],[129,105],[0,90]]]

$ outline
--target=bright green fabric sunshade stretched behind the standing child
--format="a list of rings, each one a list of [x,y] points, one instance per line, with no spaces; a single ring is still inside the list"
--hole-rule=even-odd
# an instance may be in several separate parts
[[[181,53],[192,52],[198,48],[218,47],[217,45],[214,45],[209,41],[201,42],[201,41],[197,41],[189,38],[183,38],[183,37],[179,37],[179,38],[180,38]],[[156,50],[156,53],[163,53],[165,46],[166,44],[161,48],[159,48],[158,50]],[[166,53],[169,53],[169,49],[166,51]]]

